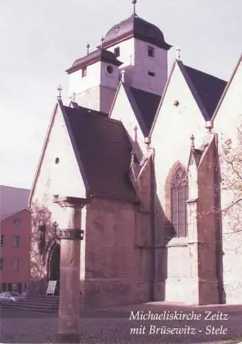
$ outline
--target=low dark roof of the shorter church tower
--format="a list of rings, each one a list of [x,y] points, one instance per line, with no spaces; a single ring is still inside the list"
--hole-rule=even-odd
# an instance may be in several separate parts
[[[112,54],[112,52],[109,52],[105,49],[98,49],[94,52],[90,52],[90,54],[87,54],[86,56],[83,56],[81,58],[78,58],[73,65],[66,70],[68,74],[71,74],[78,69],[84,68],[88,65],[92,65],[93,63],[96,63],[97,61],[104,61],[107,63],[112,63],[112,65],[122,65],[122,62],[117,59],[117,57]]]

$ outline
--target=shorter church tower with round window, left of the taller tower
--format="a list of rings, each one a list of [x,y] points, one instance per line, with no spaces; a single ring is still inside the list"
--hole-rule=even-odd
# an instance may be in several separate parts
[[[108,114],[119,85],[116,56],[100,47],[78,58],[66,72],[69,74],[69,96],[82,107]]]

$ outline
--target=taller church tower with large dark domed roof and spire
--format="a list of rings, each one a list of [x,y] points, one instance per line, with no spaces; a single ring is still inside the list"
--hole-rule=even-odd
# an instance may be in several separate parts
[[[104,37],[104,48],[123,62],[130,87],[161,95],[167,83],[167,52],[171,45],[155,25],[136,14],[114,25]]]

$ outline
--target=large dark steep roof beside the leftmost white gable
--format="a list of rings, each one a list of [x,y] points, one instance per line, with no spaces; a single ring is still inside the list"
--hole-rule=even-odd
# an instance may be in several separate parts
[[[88,193],[136,202],[128,178],[132,146],[122,123],[84,107],[63,109]]]

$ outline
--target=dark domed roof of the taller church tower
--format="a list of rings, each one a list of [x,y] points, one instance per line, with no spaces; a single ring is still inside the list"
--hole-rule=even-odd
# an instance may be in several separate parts
[[[104,37],[104,47],[110,47],[120,41],[134,37],[169,50],[172,45],[165,42],[164,35],[156,25],[148,23],[135,13],[131,17],[114,25]]]

